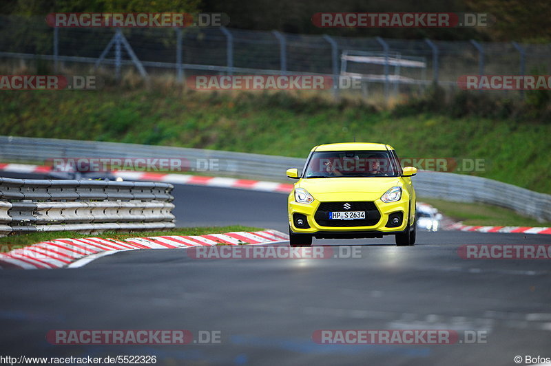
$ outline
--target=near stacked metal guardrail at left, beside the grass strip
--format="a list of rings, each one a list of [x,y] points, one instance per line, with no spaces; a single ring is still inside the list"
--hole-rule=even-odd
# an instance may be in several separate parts
[[[161,182],[21,180],[0,177],[0,236],[174,228],[173,186]]]

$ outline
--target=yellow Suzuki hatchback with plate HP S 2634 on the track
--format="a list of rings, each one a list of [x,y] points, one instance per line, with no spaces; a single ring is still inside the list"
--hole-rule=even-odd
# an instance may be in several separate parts
[[[289,195],[289,242],[310,246],[312,237],[352,239],[395,235],[415,244],[417,169],[399,164],[387,144],[347,142],[314,147]]]

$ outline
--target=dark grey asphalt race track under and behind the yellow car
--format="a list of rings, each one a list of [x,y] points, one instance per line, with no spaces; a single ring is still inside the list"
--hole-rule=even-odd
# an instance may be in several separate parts
[[[16,177],[16,175],[11,175]],[[178,226],[287,230],[287,196],[176,186]],[[74,270],[0,272],[3,354],[156,355],[158,365],[516,365],[551,357],[547,260],[461,259],[462,244],[551,244],[551,235],[417,233],[315,240],[360,258],[192,259],[120,252]],[[336,247],[335,250],[339,250]],[[220,344],[51,345],[48,330],[220,331]],[[480,331],[486,343],[320,345],[316,330]],[[524,363],[522,363],[524,365]]]

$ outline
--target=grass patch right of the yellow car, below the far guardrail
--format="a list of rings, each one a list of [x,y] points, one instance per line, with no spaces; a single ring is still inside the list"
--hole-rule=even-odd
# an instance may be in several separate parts
[[[461,221],[465,225],[551,226],[551,222],[538,222],[537,219],[520,215],[508,208],[488,204],[464,204],[431,198],[419,198],[419,200],[438,208],[442,215]]]

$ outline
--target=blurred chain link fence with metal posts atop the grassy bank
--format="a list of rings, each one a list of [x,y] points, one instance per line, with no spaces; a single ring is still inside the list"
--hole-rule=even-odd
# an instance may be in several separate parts
[[[348,55],[348,56],[347,56]],[[349,55],[357,56],[355,61]],[[348,57],[348,58],[347,58]],[[231,28],[50,28],[43,18],[0,17],[0,58],[51,72],[125,69],[171,74],[354,75],[360,92],[415,94],[461,75],[551,74],[551,45],[312,36]],[[415,66],[408,61],[415,60]],[[24,64],[24,63],[23,63]],[[91,68],[91,66],[93,68]],[[40,68],[40,67],[37,67]],[[336,80],[336,79],[335,79]],[[514,92],[518,93],[518,92]]]

